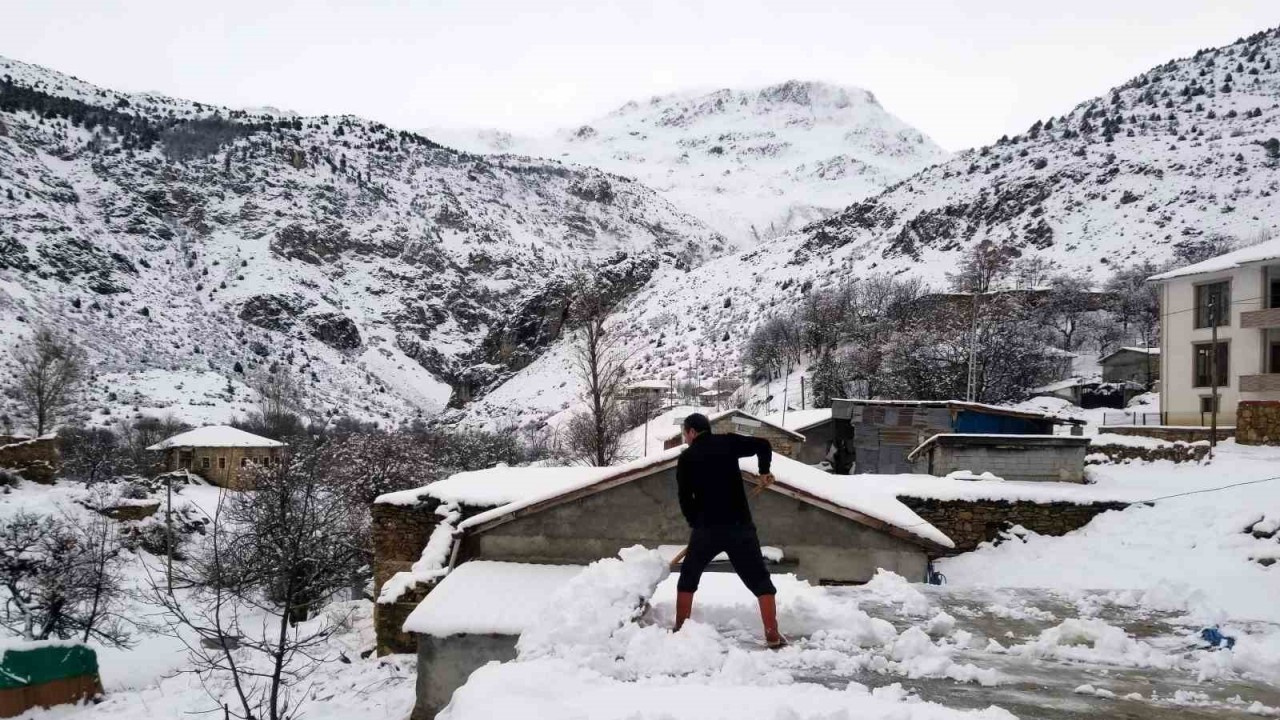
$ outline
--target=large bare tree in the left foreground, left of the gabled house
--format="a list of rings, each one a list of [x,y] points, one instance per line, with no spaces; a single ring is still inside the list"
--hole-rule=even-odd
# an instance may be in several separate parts
[[[206,683],[229,678],[234,717],[297,717],[298,684],[333,660],[324,648],[340,619],[315,610],[367,560],[355,541],[362,519],[342,501],[328,469],[306,445],[285,464],[257,468],[255,491],[221,496],[205,550],[180,566],[188,592],[172,594],[163,579],[150,584],[170,634],[187,643],[191,671]],[[248,626],[246,616],[265,620]],[[187,641],[183,629],[200,642]]]

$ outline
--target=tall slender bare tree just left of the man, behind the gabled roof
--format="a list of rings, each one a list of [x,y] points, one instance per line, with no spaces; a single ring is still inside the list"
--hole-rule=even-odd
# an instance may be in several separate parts
[[[593,465],[611,465],[618,457],[621,436],[620,397],[626,378],[626,357],[618,336],[608,327],[609,304],[595,279],[580,273],[572,320],[577,340],[573,369],[582,384],[585,413],[570,421],[566,442],[571,452]]]

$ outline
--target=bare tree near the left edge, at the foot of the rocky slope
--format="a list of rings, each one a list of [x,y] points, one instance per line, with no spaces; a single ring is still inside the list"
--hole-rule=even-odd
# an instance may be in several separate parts
[[[37,436],[54,429],[74,404],[84,378],[84,351],[50,328],[36,328],[31,342],[14,354],[18,366],[13,396],[26,410]]]

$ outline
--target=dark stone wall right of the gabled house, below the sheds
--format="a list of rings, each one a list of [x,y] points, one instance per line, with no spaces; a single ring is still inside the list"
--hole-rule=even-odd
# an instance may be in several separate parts
[[[945,555],[959,555],[996,539],[1001,530],[1021,525],[1042,536],[1065,536],[1083,528],[1094,516],[1107,510],[1123,510],[1123,502],[1025,502],[1005,500],[933,500],[899,496],[916,515],[946,533],[955,550]]]

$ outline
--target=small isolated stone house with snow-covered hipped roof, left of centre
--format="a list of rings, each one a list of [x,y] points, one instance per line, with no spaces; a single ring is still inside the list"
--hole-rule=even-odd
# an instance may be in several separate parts
[[[229,425],[196,428],[160,441],[147,450],[164,454],[163,471],[188,470],[215,486],[243,489],[248,470],[279,465],[287,446]]]

